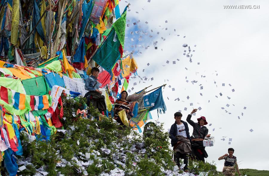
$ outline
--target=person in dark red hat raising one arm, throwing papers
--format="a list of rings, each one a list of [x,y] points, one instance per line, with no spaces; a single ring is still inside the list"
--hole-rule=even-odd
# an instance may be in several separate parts
[[[205,137],[210,137],[208,135],[208,129],[204,125],[207,124],[207,120],[204,116],[197,119],[197,123],[191,120],[192,114],[195,113],[197,109],[193,109],[192,112],[187,117],[187,122],[193,127],[192,136],[192,153],[193,158],[204,161],[204,158],[207,158],[207,152],[203,145]]]

